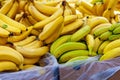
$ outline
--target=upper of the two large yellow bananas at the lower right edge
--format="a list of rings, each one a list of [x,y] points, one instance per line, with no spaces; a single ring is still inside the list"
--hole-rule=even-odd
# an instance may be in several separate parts
[[[103,54],[107,53],[108,51],[120,47],[120,39],[116,39],[114,41],[111,41],[103,50]]]

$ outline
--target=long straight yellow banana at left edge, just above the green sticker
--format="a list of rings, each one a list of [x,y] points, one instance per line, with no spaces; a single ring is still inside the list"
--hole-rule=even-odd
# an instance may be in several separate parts
[[[4,21],[5,23],[9,24],[10,26],[19,28],[19,29],[21,29],[22,31],[25,31],[25,30],[26,30],[26,27],[25,27],[23,24],[21,24],[21,23],[15,21],[15,20],[13,20],[13,19],[7,17],[7,16],[4,15],[4,14],[1,14],[1,13],[0,13],[0,19],[1,19],[2,21]]]

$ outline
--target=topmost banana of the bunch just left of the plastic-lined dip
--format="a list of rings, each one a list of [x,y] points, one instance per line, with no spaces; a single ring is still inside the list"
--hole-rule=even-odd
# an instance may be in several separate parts
[[[19,42],[14,42],[13,45],[14,46],[24,46],[24,45],[31,43],[35,39],[36,39],[36,36],[26,37],[24,40],[21,40]]]

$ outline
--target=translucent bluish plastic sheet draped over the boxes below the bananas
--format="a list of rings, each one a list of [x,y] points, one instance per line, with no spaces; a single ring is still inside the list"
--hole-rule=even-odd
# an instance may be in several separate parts
[[[0,80],[107,80],[120,70],[120,57],[98,61],[99,56],[69,64],[59,64],[49,53],[40,66],[28,70],[0,73]]]

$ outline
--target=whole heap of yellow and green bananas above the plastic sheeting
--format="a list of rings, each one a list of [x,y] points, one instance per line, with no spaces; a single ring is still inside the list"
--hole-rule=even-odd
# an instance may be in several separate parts
[[[118,1],[0,1],[0,72],[38,65],[48,52],[59,63],[120,56]]]

